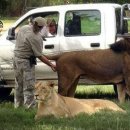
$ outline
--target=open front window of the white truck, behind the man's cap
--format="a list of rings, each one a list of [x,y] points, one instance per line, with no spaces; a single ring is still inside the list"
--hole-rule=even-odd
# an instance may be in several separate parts
[[[59,13],[58,12],[44,12],[44,13],[36,13],[33,14],[31,16],[26,17],[23,21],[21,21],[19,23],[19,25],[17,25],[17,27],[15,28],[15,34],[17,34],[17,32],[19,31],[19,28],[23,25],[31,25],[32,21],[34,18],[41,16],[43,18],[46,19],[46,21],[48,22],[48,25],[46,26],[46,28],[43,28],[41,31],[41,34],[43,35],[43,37],[52,37],[52,36],[56,36],[57,34],[57,24],[58,24],[58,20],[59,20]],[[53,20],[53,23],[55,21],[55,28],[52,26],[51,22]],[[51,27],[50,27],[51,26]],[[55,29],[55,35],[51,35],[51,32],[54,32]],[[49,32],[51,31],[51,32]],[[45,36],[44,36],[45,35]]]

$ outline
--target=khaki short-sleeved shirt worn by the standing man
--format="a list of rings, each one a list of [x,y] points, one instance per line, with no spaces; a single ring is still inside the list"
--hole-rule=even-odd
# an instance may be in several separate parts
[[[16,36],[14,56],[29,58],[30,56],[42,56],[43,40],[41,34],[35,34],[30,25],[20,28]]]

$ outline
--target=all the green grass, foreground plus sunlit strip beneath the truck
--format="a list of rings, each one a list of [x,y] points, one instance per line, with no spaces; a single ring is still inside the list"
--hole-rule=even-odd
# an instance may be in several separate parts
[[[113,92],[111,86],[78,86],[76,97],[92,97],[109,99]],[[111,100],[118,104],[117,99]],[[0,104],[0,130],[130,130],[130,103],[120,105],[127,114],[101,111],[91,116],[80,114],[73,118],[44,117],[35,121],[36,109],[14,109],[13,102]],[[71,105],[71,104],[70,104]]]

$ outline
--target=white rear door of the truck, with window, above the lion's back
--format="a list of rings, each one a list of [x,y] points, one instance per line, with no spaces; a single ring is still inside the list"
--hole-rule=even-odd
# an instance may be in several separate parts
[[[105,47],[100,10],[73,10],[65,14],[61,51],[91,50]]]

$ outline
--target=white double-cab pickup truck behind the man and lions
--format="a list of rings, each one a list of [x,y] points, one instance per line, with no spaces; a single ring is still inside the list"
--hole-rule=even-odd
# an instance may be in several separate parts
[[[0,97],[7,96],[14,87],[12,58],[15,35],[22,25],[28,24],[29,18],[42,16],[56,20],[57,34],[43,41],[43,53],[46,55],[105,49],[117,40],[117,34],[128,33],[129,18],[126,14],[129,12],[126,12],[129,7],[129,4],[72,4],[36,8],[24,14],[0,37]],[[56,80],[57,73],[38,61],[36,78]]]

